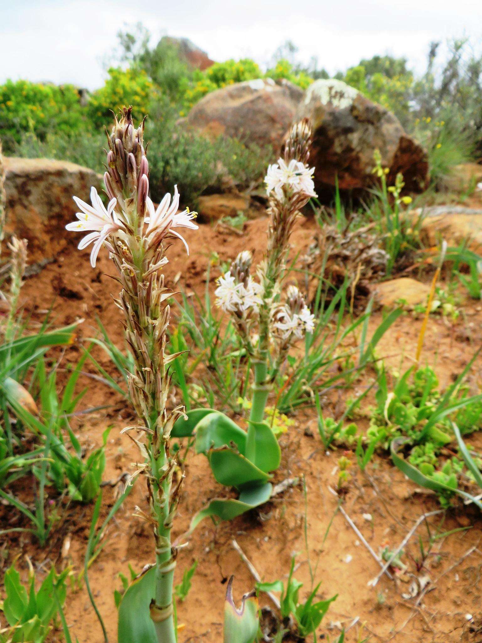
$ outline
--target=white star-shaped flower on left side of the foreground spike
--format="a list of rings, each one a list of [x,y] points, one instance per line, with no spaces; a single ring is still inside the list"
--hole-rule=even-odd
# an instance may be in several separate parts
[[[100,196],[97,194],[97,190],[93,187],[91,189],[91,206],[78,197],[74,197],[74,201],[82,212],[77,212],[76,217],[78,221],[68,223],[66,228],[74,232],[89,231],[89,234],[85,235],[84,239],[78,244],[78,249],[82,250],[95,241],[91,251],[91,265],[95,267],[97,255],[102,244],[108,244],[106,241],[107,237],[123,229],[119,217],[114,212],[117,200],[112,199],[109,201],[106,210]]]

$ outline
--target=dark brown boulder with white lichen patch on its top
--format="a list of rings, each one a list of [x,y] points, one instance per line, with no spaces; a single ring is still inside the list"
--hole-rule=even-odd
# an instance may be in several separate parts
[[[296,120],[309,118],[313,127],[310,163],[320,195],[332,195],[338,177],[340,190],[357,193],[374,184],[373,152],[380,150],[388,183],[398,172],[406,190],[427,185],[425,150],[407,136],[398,119],[341,80],[316,80],[299,103]]]

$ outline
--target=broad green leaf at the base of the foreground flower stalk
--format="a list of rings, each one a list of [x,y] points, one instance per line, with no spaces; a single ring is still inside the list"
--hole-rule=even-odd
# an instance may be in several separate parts
[[[152,567],[129,585],[119,605],[118,643],[157,643],[150,617],[150,602],[156,592],[156,568]]]

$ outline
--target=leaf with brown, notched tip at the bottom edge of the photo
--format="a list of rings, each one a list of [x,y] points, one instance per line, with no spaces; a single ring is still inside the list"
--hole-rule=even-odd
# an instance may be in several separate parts
[[[233,576],[229,579],[224,603],[224,643],[253,643],[258,633],[258,599],[251,592],[242,598],[241,608],[233,601]]]

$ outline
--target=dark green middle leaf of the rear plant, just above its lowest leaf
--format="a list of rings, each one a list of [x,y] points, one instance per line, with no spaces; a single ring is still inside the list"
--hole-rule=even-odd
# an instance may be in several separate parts
[[[217,482],[226,487],[240,489],[245,485],[262,484],[269,480],[267,473],[229,447],[213,449],[208,453],[208,458]]]

